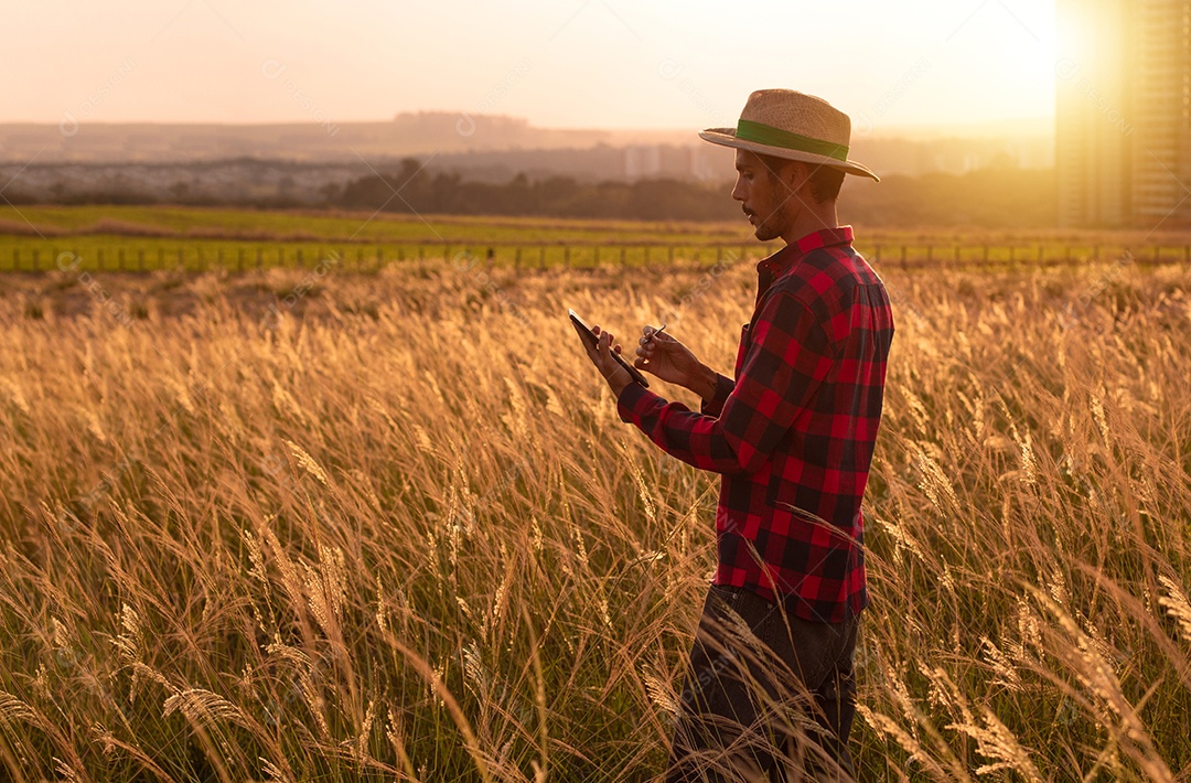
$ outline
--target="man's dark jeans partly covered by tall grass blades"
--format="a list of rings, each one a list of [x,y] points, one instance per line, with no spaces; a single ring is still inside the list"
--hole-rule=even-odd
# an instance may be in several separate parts
[[[850,781],[856,627],[850,614],[810,622],[749,590],[711,585],[667,783]]]

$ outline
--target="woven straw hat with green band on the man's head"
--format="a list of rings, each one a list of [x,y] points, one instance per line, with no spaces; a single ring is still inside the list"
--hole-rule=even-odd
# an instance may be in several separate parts
[[[759,89],[748,97],[736,128],[709,128],[699,137],[792,161],[822,163],[848,174],[880,178],[848,160],[852,120],[822,98],[793,89]]]

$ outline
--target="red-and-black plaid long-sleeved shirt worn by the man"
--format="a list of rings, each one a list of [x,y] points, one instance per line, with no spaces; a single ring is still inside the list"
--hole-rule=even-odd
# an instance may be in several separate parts
[[[723,474],[715,584],[812,621],[868,604],[860,511],[881,418],[893,313],[852,226],[810,234],[757,263],[735,381],[700,412],[638,384],[617,400],[666,453]]]

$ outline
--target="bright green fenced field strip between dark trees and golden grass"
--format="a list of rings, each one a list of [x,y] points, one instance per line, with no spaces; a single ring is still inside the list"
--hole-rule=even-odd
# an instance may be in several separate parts
[[[843,213],[841,219],[846,220]],[[312,268],[336,259],[375,271],[411,260],[500,266],[711,263],[772,253],[743,222],[628,222],[370,215],[152,206],[0,207],[0,271]],[[865,231],[856,248],[878,263],[1030,265],[1191,261],[1185,234],[1073,231]],[[73,254],[64,256],[63,254]],[[76,259],[77,257],[77,259]],[[77,260],[77,263],[75,261]]]

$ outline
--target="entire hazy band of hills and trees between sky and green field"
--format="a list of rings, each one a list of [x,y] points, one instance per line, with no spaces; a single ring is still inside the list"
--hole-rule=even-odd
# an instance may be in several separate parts
[[[858,128],[850,157],[883,182],[849,178],[849,215],[871,225],[1052,225],[1052,139],[1021,126],[966,132]],[[690,129],[557,130],[450,112],[342,125],[0,125],[0,182],[17,204],[730,219],[732,159]]]

